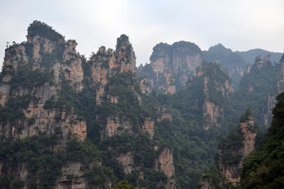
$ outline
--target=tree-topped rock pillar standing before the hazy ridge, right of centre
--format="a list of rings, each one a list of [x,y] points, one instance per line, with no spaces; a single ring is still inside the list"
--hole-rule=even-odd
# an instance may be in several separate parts
[[[232,92],[231,80],[225,69],[215,63],[203,63],[197,69],[196,76],[188,81],[192,92],[200,88],[199,104],[202,105],[202,127],[209,130],[210,127],[220,127],[224,118],[223,103]],[[221,101],[217,98],[222,99]]]

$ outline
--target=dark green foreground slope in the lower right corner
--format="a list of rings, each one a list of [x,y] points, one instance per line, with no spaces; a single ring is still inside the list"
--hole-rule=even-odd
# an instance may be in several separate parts
[[[282,188],[284,178],[284,93],[277,97],[273,121],[260,146],[244,161],[242,188]]]

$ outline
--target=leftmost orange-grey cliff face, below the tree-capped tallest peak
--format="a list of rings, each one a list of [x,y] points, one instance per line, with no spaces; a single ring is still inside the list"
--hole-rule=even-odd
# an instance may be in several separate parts
[[[60,127],[64,138],[70,131],[84,140],[86,122],[77,120],[72,109],[44,108],[47,101],[55,103],[63,80],[68,81],[75,91],[82,90],[83,57],[77,54],[75,41],[65,42],[62,36],[51,40],[31,31],[41,24],[34,21],[30,25],[27,42],[6,49],[0,84],[1,105],[9,107],[11,101],[19,98],[26,98],[28,103],[20,110],[23,118],[2,122],[1,132],[5,137],[23,138],[42,132],[53,133],[56,127]],[[39,81],[32,81],[33,76]]]

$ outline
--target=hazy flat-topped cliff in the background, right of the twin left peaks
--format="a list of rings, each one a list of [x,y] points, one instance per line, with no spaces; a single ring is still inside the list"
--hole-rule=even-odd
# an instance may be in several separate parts
[[[150,60],[150,64],[138,68],[138,76],[146,77],[151,90],[173,94],[195,74],[202,57],[197,45],[180,41],[155,45]]]

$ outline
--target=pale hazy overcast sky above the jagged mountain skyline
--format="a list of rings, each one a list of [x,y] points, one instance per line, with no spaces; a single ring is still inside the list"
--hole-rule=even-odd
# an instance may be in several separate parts
[[[149,62],[158,42],[186,40],[202,50],[222,43],[231,50],[284,50],[284,0],[0,0],[0,59],[6,42],[26,40],[33,20],[51,25],[89,57],[102,45],[114,49],[129,35],[137,65]]]

